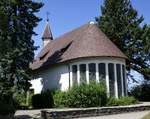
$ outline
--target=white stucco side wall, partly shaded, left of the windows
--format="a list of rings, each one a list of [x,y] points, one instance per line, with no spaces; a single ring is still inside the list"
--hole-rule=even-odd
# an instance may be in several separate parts
[[[69,71],[67,65],[58,65],[36,74],[31,81],[35,93],[48,89],[60,89],[66,91],[69,88]],[[41,82],[41,83],[39,83]]]

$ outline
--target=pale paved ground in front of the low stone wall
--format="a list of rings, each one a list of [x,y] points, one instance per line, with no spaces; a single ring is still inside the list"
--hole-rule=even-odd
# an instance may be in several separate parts
[[[124,113],[124,114],[98,116],[98,117],[87,117],[87,118],[78,118],[78,119],[141,119],[143,116],[145,116],[149,112],[150,111],[131,112],[131,113]]]

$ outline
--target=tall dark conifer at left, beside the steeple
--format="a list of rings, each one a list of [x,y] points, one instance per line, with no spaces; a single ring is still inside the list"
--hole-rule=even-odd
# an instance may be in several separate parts
[[[0,100],[14,87],[30,87],[29,64],[36,49],[33,29],[41,20],[35,13],[42,6],[32,0],[0,0]]]

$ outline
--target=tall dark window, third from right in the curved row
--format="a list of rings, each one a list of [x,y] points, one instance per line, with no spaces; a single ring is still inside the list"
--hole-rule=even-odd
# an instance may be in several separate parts
[[[110,96],[115,96],[114,64],[108,64]]]

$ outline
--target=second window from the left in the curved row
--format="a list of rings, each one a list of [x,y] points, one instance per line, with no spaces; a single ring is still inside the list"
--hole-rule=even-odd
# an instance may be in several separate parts
[[[80,65],[80,82],[86,82],[86,65]]]

